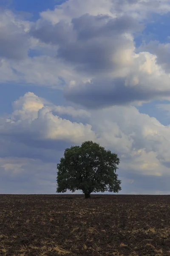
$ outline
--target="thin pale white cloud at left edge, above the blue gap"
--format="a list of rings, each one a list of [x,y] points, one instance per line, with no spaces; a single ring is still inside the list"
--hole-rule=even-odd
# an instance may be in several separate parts
[[[80,82],[86,75],[50,56],[26,58],[20,62],[0,60],[0,83],[15,82],[63,90],[70,82]]]

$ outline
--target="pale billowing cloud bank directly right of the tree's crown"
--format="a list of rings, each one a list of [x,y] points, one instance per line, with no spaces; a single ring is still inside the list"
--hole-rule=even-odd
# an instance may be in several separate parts
[[[120,175],[161,176],[169,174],[170,127],[133,107],[114,106],[92,111],[97,140],[121,159]],[[128,175],[127,175],[128,176]]]

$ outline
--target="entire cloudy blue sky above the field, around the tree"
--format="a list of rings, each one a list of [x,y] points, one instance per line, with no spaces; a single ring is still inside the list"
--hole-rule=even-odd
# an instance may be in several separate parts
[[[0,194],[57,194],[93,140],[118,195],[170,195],[169,20],[170,0],[0,0]]]

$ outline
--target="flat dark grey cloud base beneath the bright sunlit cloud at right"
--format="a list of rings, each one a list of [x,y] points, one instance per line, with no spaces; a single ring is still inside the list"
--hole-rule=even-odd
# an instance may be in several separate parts
[[[91,82],[65,90],[65,98],[87,108],[111,105],[130,105],[136,101],[150,101],[170,96],[169,90],[159,91],[139,86],[125,86],[125,79],[94,79]]]

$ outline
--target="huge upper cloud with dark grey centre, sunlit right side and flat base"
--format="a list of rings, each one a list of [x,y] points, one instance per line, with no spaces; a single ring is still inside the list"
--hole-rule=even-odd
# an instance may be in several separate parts
[[[147,4],[153,10],[156,7]],[[146,2],[143,6],[146,8]],[[86,81],[66,86],[66,99],[87,108],[103,108],[170,99],[170,77],[157,56],[147,49],[136,53],[133,34],[141,29],[141,23],[127,14],[85,14],[73,17],[70,23],[38,20],[30,33],[58,45],[57,57],[89,76]]]

